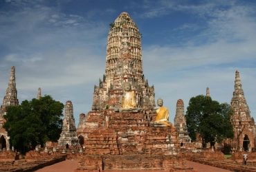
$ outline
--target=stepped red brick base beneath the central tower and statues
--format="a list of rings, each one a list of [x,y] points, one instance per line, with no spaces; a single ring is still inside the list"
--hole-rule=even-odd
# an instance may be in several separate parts
[[[89,168],[86,162],[90,164],[94,159],[101,163],[97,163],[100,169],[112,170],[182,166],[176,128],[149,127],[155,118],[154,113],[120,113],[112,109],[80,116],[77,134],[84,153],[80,169]]]

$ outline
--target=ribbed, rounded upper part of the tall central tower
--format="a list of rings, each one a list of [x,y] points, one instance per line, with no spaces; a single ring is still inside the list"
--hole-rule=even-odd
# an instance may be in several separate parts
[[[110,24],[107,41],[106,73],[107,80],[111,79],[108,73],[116,73],[118,62],[122,54],[128,54],[129,59],[134,62],[138,72],[143,73],[143,62],[141,54],[141,36],[137,25],[127,12],[122,12],[116,20]],[[123,63],[128,63],[123,61]],[[123,64],[122,63],[122,64]],[[114,70],[114,71],[113,71]]]

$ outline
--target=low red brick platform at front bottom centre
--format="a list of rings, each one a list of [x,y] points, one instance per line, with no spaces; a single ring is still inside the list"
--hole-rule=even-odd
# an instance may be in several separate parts
[[[77,171],[170,170],[185,167],[179,155],[84,155]]]

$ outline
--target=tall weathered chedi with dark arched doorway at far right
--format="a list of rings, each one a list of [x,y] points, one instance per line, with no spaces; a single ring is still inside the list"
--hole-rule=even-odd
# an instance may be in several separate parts
[[[250,117],[250,109],[244,97],[239,72],[235,72],[235,91],[231,99],[231,107],[234,114],[231,116],[234,125],[235,138],[229,140],[231,147],[235,150],[251,151],[255,147],[255,121]]]

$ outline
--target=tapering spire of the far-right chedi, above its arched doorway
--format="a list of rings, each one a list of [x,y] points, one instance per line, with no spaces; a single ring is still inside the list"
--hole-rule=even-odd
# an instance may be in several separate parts
[[[235,91],[231,99],[231,107],[235,111],[233,118],[239,118],[239,120],[250,120],[250,109],[246,103],[244,97],[244,90],[242,89],[239,72],[235,72]]]

